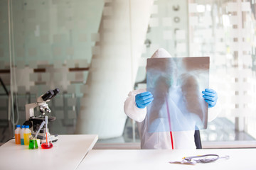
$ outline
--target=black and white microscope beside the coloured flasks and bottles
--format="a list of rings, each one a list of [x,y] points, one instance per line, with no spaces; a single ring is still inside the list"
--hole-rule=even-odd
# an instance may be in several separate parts
[[[29,103],[26,104],[26,122],[23,123],[23,125],[29,125],[29,128],[31,128],[31,134],[34,136],[36,132],[38,131],[41,123],[45,120],[45,114],[50,113],[50,108],[48,107],[47,102],[50,101],[51,98],[56,96],[60,90],[54,89],[46,92],[46,94],[41,95],[36,99],[36,103]],[[42,115],[35,116],[34,115],[34,108],[39,107],[40,112]],[[48,121],[55,120],[55,117],[48,117]],[[45,139],[43,137],[44,132],[46,132],[46,125],[43,126],[43,128],[38,133],[38,139],[43,142]],[[58,140],[58,135],[50,135],[50,140],[52,142],[56,142]]]

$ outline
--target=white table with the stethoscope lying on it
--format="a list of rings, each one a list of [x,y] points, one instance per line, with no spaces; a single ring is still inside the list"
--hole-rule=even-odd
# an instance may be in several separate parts
[[[218,159],[208,164],[169,164],[182,157],[199,154],[229,155],[230,159]],[[92,149],[78,166],[86,169],[256,169],[256,149],[197,149],[197,150],[144,150],[144,149]]]

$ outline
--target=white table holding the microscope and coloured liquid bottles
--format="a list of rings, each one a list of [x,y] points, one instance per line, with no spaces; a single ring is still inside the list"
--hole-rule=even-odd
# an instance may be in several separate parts
[[[0,147],[0,169],[76,169],[97,135],[58,135],[51,149],[28,149],[14,140]]]

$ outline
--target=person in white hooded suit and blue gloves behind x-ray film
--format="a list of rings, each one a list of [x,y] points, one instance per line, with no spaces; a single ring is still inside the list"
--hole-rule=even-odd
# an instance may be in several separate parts
[[[151,58],[161,58],[161,57],[171,57],[169,52],[160,48],[154,52]],[[179,89],[183,91],[182,88]],[[208,103],[208,107],[213,109],[217,100],[218,94],[213,89],[206,89],[203,93],[203,99]],[[176,95],[175,91],[169,91],[169,96]],[[195,94],[196,95],[196,94]],[[198,97],[198,96],[197,96]],[[176,97],[174,97],[176,98]],[[156,126],[148,127],[149,123],[146,120],[146,106],[149,106],[151,102],[154,100],[154,96],[146,89],[138,89],[134,91],[130,91],[126,101],[124,102],[124,113],[126,113],[129,118],[132,118],[137,122],[137,127],[139,130],[139,137],[141,140],[141,148],[142,149],[196,149],[196,144],[194,140],[195,130],[186,130],[186,131],[173,131],[173,132],[165,132],[165,131],[155,131],[149,132],[150,128],[157,128],[159,122],[156,123]],[[187,98],[189,100],[189,98]],[[176,108],[179,106],[178,99],[174,100],[176,103]],[[172,108],[173,112],[175,112],[175,107],[170,106],[169,104],[162,105],[161,107]],[[154,106],[152,106],[153,108]],[[193,106],[188,106],[188,108],[193,110]],[[211,110],[210,109],[210,110]],[[178,109],[176,109],[178,111]],[[208,121],[213,120],[218,112],[211,113],[209,110]],[[169,112],[172,112],[171,110]],[[177,112],[178,113],[178,112]],[[156,115],[156,117],[159,115]],[[161,116],[160,116],[161,117]],[[157,119],[156,119],[157,120]],[[156,121],[155,120],[155,121]],[[154,123],[152,123],[154,124]]]

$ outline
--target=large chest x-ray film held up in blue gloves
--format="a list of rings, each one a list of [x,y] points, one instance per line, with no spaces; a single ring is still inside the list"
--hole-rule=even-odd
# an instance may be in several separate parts
[[[151,58],[146,64],[146,88],[154,101],[147,106],[148,132],[207,128],[209,57]]]

